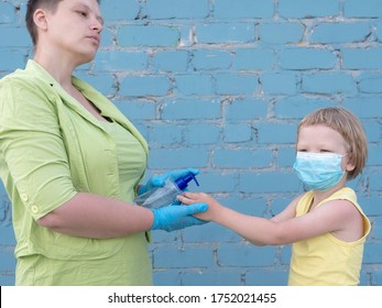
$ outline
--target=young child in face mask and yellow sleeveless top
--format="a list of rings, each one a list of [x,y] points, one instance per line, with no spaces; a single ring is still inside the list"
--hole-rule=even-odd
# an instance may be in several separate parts
[[[225,226],[255,245],[293,243],[288,285],[358,285],[370,221],[346,182],[365,164],[362,125],[346,109],[316,110],[298,125],[296,151],[293,167],[307,191],[270,220],[228,209],[203,193],[178,199],[207,204],[197,218]]]

